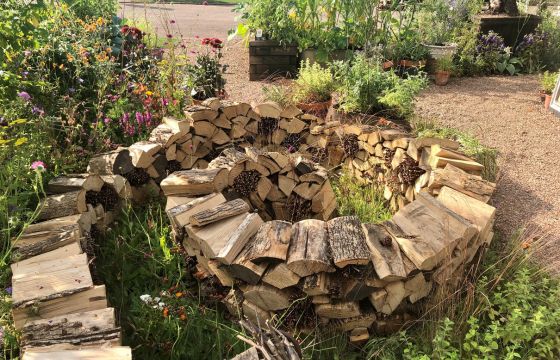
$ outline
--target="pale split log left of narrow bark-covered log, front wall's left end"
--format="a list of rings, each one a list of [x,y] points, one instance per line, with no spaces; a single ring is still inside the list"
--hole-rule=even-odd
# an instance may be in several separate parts
[[[226,198],[221,193],[213,193],[199,198],[182,199],[174,200],[174,203],[179,205],[166,210],[171,225],[179,233],[183,231],[185,226],[190,224],[192,215],[204,210],[213,209],[226,202]]]

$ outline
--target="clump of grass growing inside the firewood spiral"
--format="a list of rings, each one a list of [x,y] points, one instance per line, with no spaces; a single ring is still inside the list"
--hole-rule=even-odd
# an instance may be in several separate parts
[[[338,213],[355,215],[362,222],[379,223],[389,220],[391,211],[383,191],[372,185],[360,184],[353,176],[343,174],[333,182]]]

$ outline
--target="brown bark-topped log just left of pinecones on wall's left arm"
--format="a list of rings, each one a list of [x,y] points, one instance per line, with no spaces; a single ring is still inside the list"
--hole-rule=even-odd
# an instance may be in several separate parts
[[[38,220],[50,220],[87,211],[86,192],[83,190],[51,195],[41,201]]]

